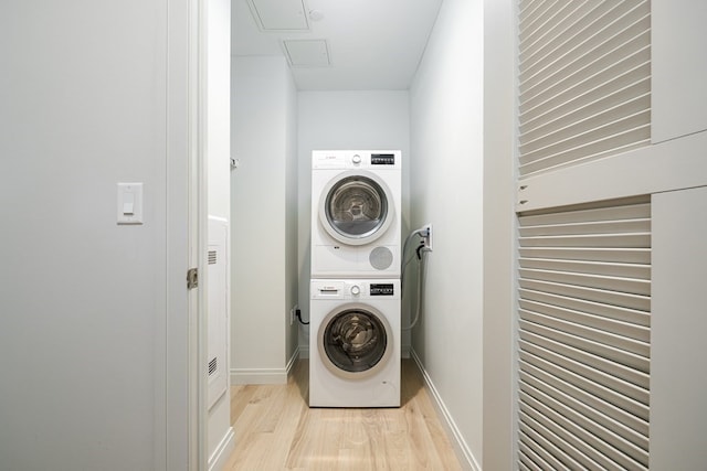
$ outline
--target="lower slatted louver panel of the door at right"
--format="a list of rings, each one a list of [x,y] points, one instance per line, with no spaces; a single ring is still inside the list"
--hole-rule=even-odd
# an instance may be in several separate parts
[[[647,197],[519,216],[520,470],[648,468]]]

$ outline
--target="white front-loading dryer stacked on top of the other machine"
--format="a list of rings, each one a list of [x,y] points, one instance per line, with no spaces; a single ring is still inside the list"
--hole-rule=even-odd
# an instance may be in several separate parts
[[[401,152],[312,152],[312,278],[400,277]]]

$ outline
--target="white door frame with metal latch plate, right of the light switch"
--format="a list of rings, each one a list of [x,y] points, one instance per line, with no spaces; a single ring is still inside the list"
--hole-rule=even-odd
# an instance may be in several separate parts
[[[156,470],[207,470],[205,0],[167,1],[167,310],[157,335]],[[201,288],[187,289],[197,268]]]

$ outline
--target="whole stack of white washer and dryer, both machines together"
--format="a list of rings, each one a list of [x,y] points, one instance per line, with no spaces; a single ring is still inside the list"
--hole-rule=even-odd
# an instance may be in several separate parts
[[[309,406],[400,406],[401,152],[314,151]]]

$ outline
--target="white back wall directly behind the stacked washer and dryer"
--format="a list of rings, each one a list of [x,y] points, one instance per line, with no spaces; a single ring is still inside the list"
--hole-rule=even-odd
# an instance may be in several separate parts
[[[299,92],[299,306],[309,319],[309,245],[312,151],[327,149],[400,149],[402,151],[402,226],[409,227],[410,111],[408,92]],[[403,303],[403,318],[407,317]],[[405,319],[403,319],[403,323]],[[302,327],[306,351],[309,328]],[[410,345],[403,338],[402,350]]]

